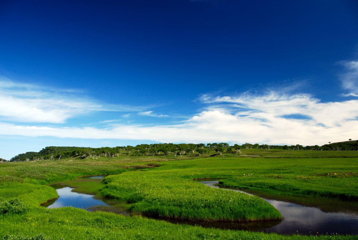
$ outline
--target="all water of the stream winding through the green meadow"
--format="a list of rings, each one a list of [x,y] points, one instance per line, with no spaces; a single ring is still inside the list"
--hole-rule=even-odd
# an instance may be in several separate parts
[[[83,178],[101,179],[106,175],[88,176]],[[199,182],[209,187],[216,186],[218,180],[200,180]],[[73,188],[63,187],[57,189],[59,198],[48,202],[47,208],[77,207],[89,210],[90,207],[105,205],[105,202],[93,198],[92,195],[72,192]],[[237,189],[227,189],[242,192]],[[248,193],[246,193],[248,194]],[[249,230],[276,232],[278,234],[301,234],[301,235],[336,235],[336,234],[358,234],[357,213],[332,213],[323,212],[316,207],[306,207],[295,203],[265,199],[277,210],[280,211],[283,219],[281,221],[260,221],[260,222],[194,222],[183,220],[166,220],[172,223],[184,223],[199,225],[203,227],[215,227],[232,230]]]

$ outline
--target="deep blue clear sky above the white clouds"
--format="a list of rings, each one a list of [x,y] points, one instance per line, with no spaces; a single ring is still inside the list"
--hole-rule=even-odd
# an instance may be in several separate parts
[[[208,109],[203,94],[257,96],[278,89],[321,103],[355,99],[354,88],[340,78],[357,59],[355,0],[1,0],[0,31],[0,75],[6,81],[51,93],[71,89],[107,107],[141,108],[120,123],[180,123]],[[138,114],[146,111],[170,117]],[[0,120],[102,129],[98,122],[127,113],[82,113],[61,123],[19,121],[11,114]]]

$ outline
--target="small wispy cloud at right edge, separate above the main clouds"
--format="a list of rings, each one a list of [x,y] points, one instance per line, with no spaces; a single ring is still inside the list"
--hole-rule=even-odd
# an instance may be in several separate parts
[[[358,61],[340,62],[345,67],[345,73],[340,75],[343,89],[348,90],[344,96],[358,97]]]

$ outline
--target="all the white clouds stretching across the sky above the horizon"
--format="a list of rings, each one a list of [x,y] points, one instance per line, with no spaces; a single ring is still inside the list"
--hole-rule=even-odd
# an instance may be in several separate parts
[[[347,63],[343,88],[356,96],[357,62]],[[349,83],[352,83],[349,85]],[[81,139],[122,139],[156,142],[229,142],[324,144],[358,134],[358,100],[321,102],[310,94],[267,90],[261,95],[203,94],[204,109],[180,122],[116,123],[102,119],[95,126],[69,126],[71,118],[106,111],[131,112],[136,117],[168,117],[145,107],[100,104],[75,97],[71,91],[14,81],[0,81],[0,135]],[[347,95],[347,96],[348,96]],[[76,95],[77,96],[77,95]],[[63,100],[66,99],[66,100]],[[194,100],[194,99],[193,99]],[[46,125],[45,125],[46,124]],[[51,125],[52,124],[52,125]]]

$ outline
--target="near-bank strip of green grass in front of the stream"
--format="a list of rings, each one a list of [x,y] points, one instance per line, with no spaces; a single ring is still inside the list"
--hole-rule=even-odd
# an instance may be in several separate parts
[[[77,208],[36,208],[24,215],[0,217],[3,236],[46,239],[354,239],[354,236],[277,235],[262,232],[232,231],[173,224],[143,217],[127,217],[106,212],[87,212]],[[8,238],[9,239],[9,238]],[[11,239],[11,238],[10,238]],[[25,238],[26,239],[26,238]],[[28,238],[29,239],[29,238]]]

